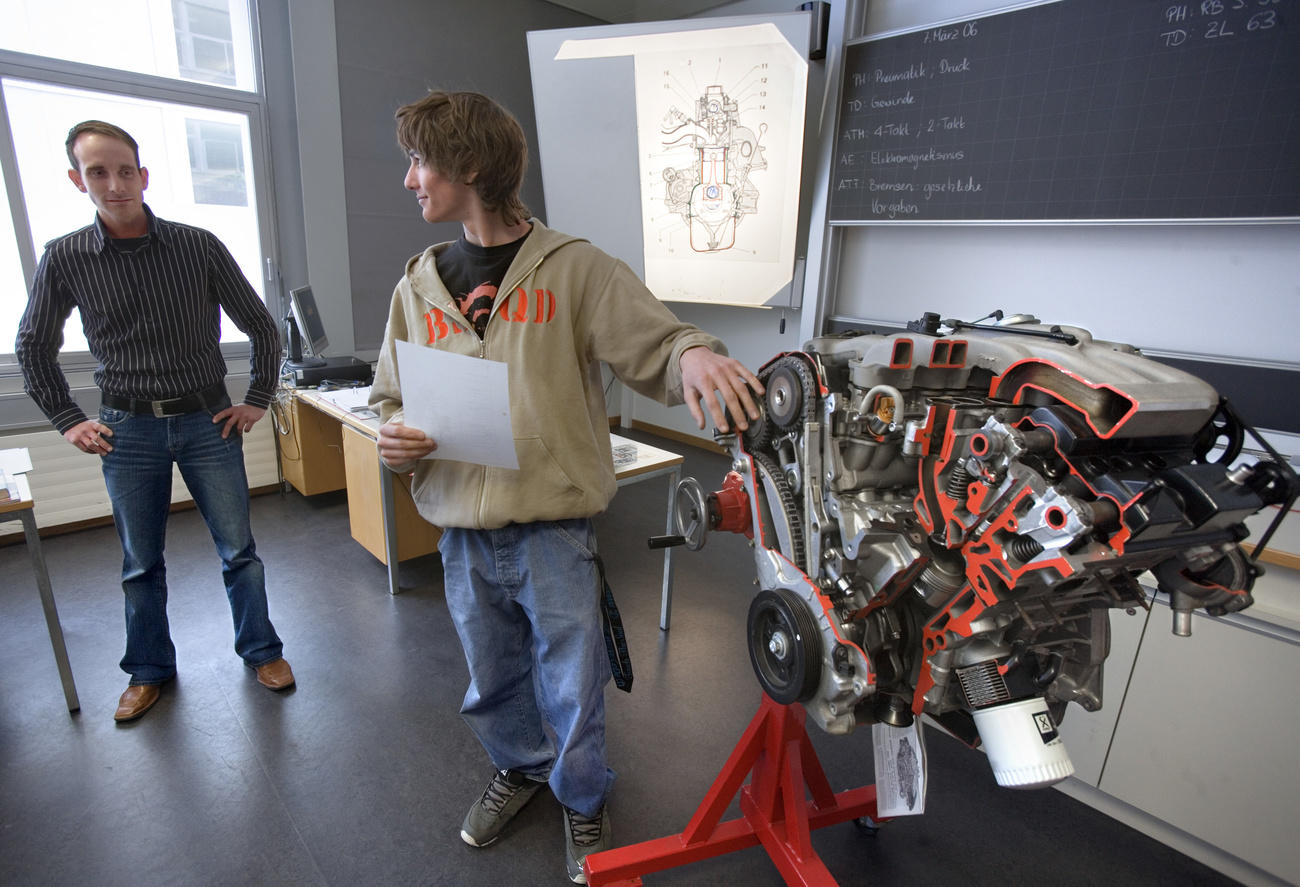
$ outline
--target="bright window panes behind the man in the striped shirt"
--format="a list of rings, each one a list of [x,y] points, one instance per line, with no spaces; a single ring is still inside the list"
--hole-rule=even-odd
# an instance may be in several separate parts
[[[257,198],[265,166],[255,151],[264,131],[264,101],[259,94],[239,98],[229,90],[251,88],[255,81],[247,0],[6,3],[12,5],[17,9],[6,8],[0,29],[0,173],[6,198],[0,205],[0,377],[16,372],[13,342],[44,245],[94,221],[94,204],[68,179],[64,151],[69,127],[82,120],[107,120],[131,133],[150,170],[150,208],[214,233],[265,299],[270,218],[260,208],[266,202]],[[84,26],[72,29],[68,21]],[[112,40],[87,36],[109,31]],[[14,44],[23,52],[5,51]],[[105,68],[62,61],[70,57]],[[229,85],[208,85],[221,78]],[[207,82],[190,82],[200,79]],[[21,209],[12,217],[14,203]],[[222,323],[224,343],[247,341],[229,319]],[[75,313],[64,338],[62,362],[84,367],[90,358]],[[0,399],[4,390],[12,389],[0,385]]]

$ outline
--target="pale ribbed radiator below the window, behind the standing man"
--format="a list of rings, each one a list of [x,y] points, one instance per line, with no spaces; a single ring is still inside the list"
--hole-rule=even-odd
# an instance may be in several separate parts
[[[259,421],[244,436],[244,468],[250,489],[280,483],[274,425],[269,419],[268,412],[266,420]],[[36,502],[36,525],[60,527],[112,516],[113,509],[99,470],[99,457],[82,453],[53,428],[0,434],[0,450],[9,447],[26,447],[31,454],[31,473],[27,480]],[[176,468],[172,470],[172,501],[191,501],[190,490]],[[21,524],[0,524],[0,540],[14,535],[22,535]]]

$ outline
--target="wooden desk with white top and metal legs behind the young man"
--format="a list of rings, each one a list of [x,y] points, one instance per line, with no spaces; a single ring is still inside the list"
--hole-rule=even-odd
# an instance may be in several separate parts
[[[290,394],[290,428],[277,434],[277,440],[285,480],[304,496],[347,489],[352,538],[387,566],[389,593],[396,594],[402,590],[398,563],[437,550],[442,531],[419,515],[404,479],[380,459],[376,446],[380,420],[352,411],[352,406],[365,403],[369,389],[283,390]],[[682,457],[618,434],[611,434],[610,441],[615,449],[614,476],[619,486],[668,477],[666,532],[676,532],[673,502]],[[634,449],[634,455],[628,447]],[[621,455],[628,458],[620,459]],[[663,629],[668,628],[671,609],[672,549],[667,548],[663,550],[659,605],[659,627]]]

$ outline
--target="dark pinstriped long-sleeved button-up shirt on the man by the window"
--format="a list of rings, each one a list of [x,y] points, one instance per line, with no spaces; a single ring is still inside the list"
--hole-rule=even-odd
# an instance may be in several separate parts
[[[110,242],[99,216],[46,245],[16,352],[27,394],[61,432],[84,421],[58,367],[64,324],[81,310],[95,384],[105,394],[164,401],[221,382],[221,311],[252,343],[244,403],[270,406],[280,360],[274,317],[211,232],[148,215],[148,235]]]

